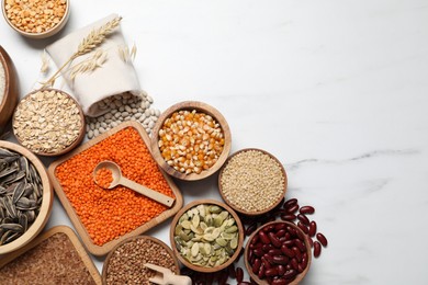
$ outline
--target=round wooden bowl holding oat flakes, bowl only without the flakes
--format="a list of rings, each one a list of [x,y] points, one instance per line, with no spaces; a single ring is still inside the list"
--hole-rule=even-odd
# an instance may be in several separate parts
[[[18,106],[15,109],[15,112],[13,114],[13,118],[12,118],[12,126],[13,126],[13,134],[15,135],[16,137],[16,140],[21,144],[21,145],[24,145],[23,144],[23,140],[20,138],[19,134],[18,134],[18,130],[15,129],[15,119],[16,119],[16,111],[20,107],[20,104],[26,99],[29,98],[30,95],[34,94],[34,93],[37,93],[40,91],[55,91],[55,92],[59,92],[61,94],[64,94],[65,96],[67,96],[68,99],[70,99],[72,102],[75,102],[77,109],[79,110],[79,116],[80,116],[80,123],[81,123],[81,127],[80,127],[80,130],[79,130],[79,135],[78,137],[66,148],[64,148],[63,150],[60,151],[57,151],[57,152],[44,152],[44,151],[36,151],[34,149],[31,149],[30,147],[27,147],[31,151],[33,151],[34,153],[36,155],[40,155],[40,156],[45,156],[45,157],[56,157],[56,156],[61,156],[61,155],[65,155],[67,152],[69,152],[70,150],[75,149],[78,145],[80,145],[80,142],[83,140],[85,138],[85,134],[86,134],[86,121],[85,121],[85,114],[83,114],[83,111],[80,106],[80,104],[68,93],[61,91],[61,90],[58,90],[58,89],[43,89],[43,90],[35,90],[35,91],[32,91],[30,92],[29,94],[26,94],[21,101],[20,103],[18,103]],[[60,123],[60,122],[58,122]]]

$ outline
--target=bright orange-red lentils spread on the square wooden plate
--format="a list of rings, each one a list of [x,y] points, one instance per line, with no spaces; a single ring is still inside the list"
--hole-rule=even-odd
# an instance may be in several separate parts
[[[167,209],[127,187],[104,190],[98,186],[93,181],[93,169],[103,160],[116,162],[127,179],[173,197],[168,182],[133,127],[124,128],[63,162],[55,175],[98,246],[136,229]]]

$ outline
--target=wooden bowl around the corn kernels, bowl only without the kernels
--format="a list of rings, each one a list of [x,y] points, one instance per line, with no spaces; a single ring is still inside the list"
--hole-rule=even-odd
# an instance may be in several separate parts
[[[177,171],[173,169],[173,167],[170,167],[167,161],[164,159],[164,157],[160,153],[159,146],[158,146],[158,140],[159,140],[159,130],[162,127],[165,121],[169,118],[174,112],[178,111],[193,111],[195,110],[199,113],[204,113],[207,115],[211,115],[221,126],[224,135],[224,148],[222,155],[218,157],[217,161],[207,170],[203,170],[201,173],[189,173],[185,174],[183,172]],[[195,180],[201,180],[204,178],[207,178],[215,173],[226,161],[227,156],[229,155],[230,151],[230,129],[229,126],[226,122],[226,119],[223,117],[223,115],[215,110],[214,107],[202,103],[202,102],[195,102],[195,101],[185,101],[181,103],[177,103],[167,111],[165,111],[158,118],[154,132],[153,132],[153,137],[151,137],[151,152],[154,153],[155,160],[158,162],[158,164],[167,172],[168,174],[181,179],[181,180],[187,180],[187,181],[195,181]]]

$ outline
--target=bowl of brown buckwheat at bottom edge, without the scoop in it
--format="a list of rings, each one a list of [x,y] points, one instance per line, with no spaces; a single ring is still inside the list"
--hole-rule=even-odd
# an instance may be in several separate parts
[[[115,246],[105,259],[102,284],[151,284],[156,275],[144,266],[151,263],[180,274],[180,266],[172,250],[162,241],[148,237],[131,237]]]

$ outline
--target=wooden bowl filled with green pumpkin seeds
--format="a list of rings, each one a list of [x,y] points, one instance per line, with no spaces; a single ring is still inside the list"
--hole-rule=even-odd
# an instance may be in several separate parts
[[[170,242],[177,258],[199,272],[217,272],[230,265],[244,244],[238,215],[215,200],[199,200],[174,216]]]

